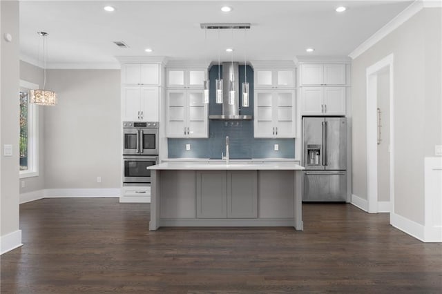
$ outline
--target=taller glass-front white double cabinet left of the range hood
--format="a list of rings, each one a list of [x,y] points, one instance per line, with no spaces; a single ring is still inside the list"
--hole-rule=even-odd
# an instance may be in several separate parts
[[[167,137],[209,137],[208,115],[202,90],[167,91]]]

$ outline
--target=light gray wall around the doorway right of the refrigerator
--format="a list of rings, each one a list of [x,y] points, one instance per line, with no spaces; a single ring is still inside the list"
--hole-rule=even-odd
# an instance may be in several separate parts
[[[352,63],[353,194],[367,199],[365,70],[393,53],[394,209],[419,224],[425,213],[423,160],[442,144],[441,51],[441,9],[425,8]]]

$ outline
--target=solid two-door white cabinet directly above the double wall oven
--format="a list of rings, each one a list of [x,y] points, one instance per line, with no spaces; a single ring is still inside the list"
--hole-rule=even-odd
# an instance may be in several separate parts
[[[122,121],[159,121],[159,87],[123,86]]]

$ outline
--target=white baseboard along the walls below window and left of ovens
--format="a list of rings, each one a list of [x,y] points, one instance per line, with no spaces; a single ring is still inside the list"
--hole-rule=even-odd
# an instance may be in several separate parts
[[[120,188],[44,189],[20,194],[20,204],[43,198],[119,197]]]

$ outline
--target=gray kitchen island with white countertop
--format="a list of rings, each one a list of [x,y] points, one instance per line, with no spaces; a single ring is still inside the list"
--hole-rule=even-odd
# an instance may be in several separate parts
[[[288,161],[165,162],[151,170],[160,226],[294,226],[302,231],[302,166]]]

